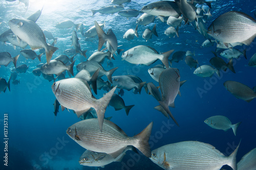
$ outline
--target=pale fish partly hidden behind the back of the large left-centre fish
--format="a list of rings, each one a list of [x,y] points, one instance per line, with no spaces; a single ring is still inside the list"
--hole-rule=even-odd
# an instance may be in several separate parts
[[[99,71],[100,68],[98,68],[91,77],[90,73],[86,69],[82,69],[78,72],[78,74],[76,74],[75,78],[87,81],[92,85],[94,93],[97,94],[97,79],[99,76]]]

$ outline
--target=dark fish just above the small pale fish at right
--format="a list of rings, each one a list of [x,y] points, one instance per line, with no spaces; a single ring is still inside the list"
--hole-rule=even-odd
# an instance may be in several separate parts
[[[210,59],[210,64],[217,68],[218,70],[226,71],[227,68],[230,69],[233,73],[236,73],[233,67],[233,59],[230,59],[228,63],[226,63],[222,58],[215,56]]]

